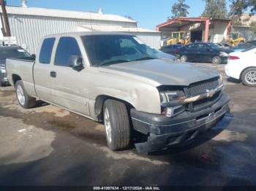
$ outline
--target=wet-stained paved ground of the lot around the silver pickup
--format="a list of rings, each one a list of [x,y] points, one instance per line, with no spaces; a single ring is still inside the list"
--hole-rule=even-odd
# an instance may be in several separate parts
[[[191,144],[112,152],[102,124],[0,87],[0,185],[256,185],[256,89],[227,79],[231,113]]]

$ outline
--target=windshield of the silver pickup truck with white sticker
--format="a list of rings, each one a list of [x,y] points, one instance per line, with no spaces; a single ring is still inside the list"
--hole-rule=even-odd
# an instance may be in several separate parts
[[[136,36],[82,36],[92,66],[157,59],[154,52]]]

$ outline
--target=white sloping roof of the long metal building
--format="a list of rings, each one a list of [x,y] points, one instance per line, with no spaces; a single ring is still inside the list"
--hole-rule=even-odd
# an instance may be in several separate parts
[[[7,14],[10,15],[32,15],[32,16],[43,16],[43,17],[63,17],[63,18],[74,18],[74,19],[85,19],[85,20],[108,20],[126,23],[137,23],[135,20],[130,20],[126,17],[119,15],[108,15],[100,14],[97,12],[77,12],[60,9],[45,9],[36,7],[6,7]],[[0,8],[0,12],[1,8]]]

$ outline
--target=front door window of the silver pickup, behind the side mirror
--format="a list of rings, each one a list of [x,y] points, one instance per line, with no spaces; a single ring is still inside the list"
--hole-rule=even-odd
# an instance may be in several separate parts
[[[61,37],[56,50],[54,65],[69,66],[69,58],[72,55],[81,56],[78,42],[72,37]]]

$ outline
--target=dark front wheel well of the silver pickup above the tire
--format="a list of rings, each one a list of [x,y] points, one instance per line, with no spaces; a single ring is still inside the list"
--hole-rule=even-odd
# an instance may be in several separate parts
[[[113,100],[120,101],[120,102],[124,103],[127,106],[128,114],[129,114],[130,109],[135,108],[134,106],[132,106],[132,104],[129,104],[127,101],[124,101],[124,100],[121,100],[121,99],[118,99],[118,98],[114,98],[114,97],[111,97],[109,95],[99,95],[96,98],[96,101],[95,101],[94,112],[95,112],[95,116],[96,116],[97,120],[100,121],[100,122],[102,122],[102,120],[103,120],[103,106],[104,106],[104,103],[108,99],[113,99]]]

